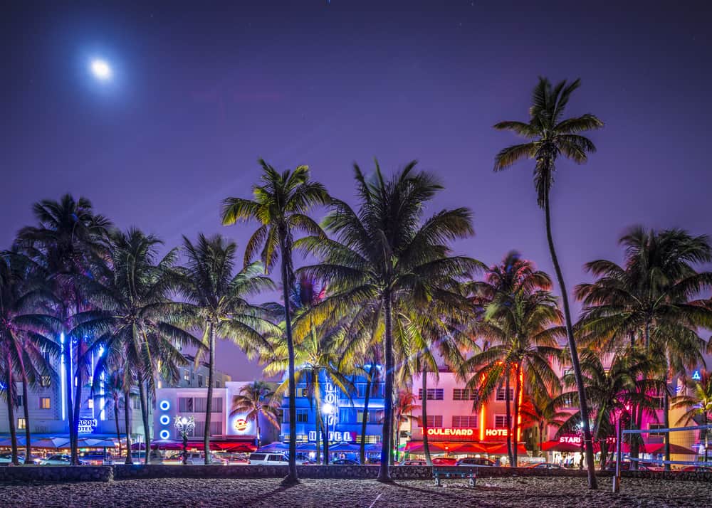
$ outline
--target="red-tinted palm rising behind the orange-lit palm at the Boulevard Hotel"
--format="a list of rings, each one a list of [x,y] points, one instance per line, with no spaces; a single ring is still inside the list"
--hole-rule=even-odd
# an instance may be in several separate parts
[[[493,265],[486,271],[484,280],[473,281],[466,285],[466,292],[471,295],[473,305],[478,309],[478,320],[473,320],[473,333],[477,334],[478,328],[487,329],[488,324],[482,322],[486,317],[485,309],[495,309],[512,305],[515,294],[519,292],[529,293],[536,290],[551,290],[551,277],[548,273],[536,270],[534,263],[525,260],[516,250],[508,252],[499,265]],[[486,335],[486,334],[485,334]],[[488,349],[488,337],[483,337],[485,343],[483,349]],[[463,373],[465,375],[467,373]],[[505,408],[506,425],[512,428],[511,420],[511,369],[496,369],[490,374],[501,374],[504,377],[505,385]],[[501,380],[491,378],[491,381],[498,383]],[[514,464],[511,432],[507,433],[507,453],[509,463]]]

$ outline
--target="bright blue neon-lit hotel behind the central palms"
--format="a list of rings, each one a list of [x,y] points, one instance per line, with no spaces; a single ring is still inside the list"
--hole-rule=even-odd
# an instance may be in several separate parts
[[[379,383],[372,387],[369,397],[368,413],[364,414],[364,403],[367,382],[363,376],[350,378],[354,389],[350,397],[335,386],[326,376],[320,379],[321,385],[321,410],[325,427],[328,429],[330,443],[360,443],[362,418],[367,418],[366,443],[380,443],[382,441],[383,421],[383,394],[384,385]],[[296,427],[297,443],[316,443],[318,415],[313,398],[308,396],[308,386],[304,380],[297,383],[297,418]],[[282,401],[282,430],[281,440],[289,440],[289,398],[285,396]],[[327,414],[328,413],[328,414]],[[324,435],[320,435],[320,442]]]

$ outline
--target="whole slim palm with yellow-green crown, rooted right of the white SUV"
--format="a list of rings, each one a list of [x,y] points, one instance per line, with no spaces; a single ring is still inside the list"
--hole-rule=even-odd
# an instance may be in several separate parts
[[[305,231],[323,238],[323,231],[308,215],[315,205],[323,205],[329,196],[323,185],[309,179],[308,166],[298,166],[294,171],[278,173],[276,169],[259,160],[262,167],[261,185],[253,186],[253,199],[228,198],[223,202],[222,223],[225,226],[237,221],[256,220],[261,226],[253,233],[245,248],[245,265],[251,263],[258,250],[266,272],[277,259],[281,260],[282,290],[284,302],[289,301],[293,285],[292,246],[294,233]],[[294,423],[296,416],[296,388],[294,384],[294,342],[289,305],[284,305],[284,323],[289,353],[289,417]],[[298,482],[296,463],[296,440],[294,425],[289,433],[289,474],[284,485]]]

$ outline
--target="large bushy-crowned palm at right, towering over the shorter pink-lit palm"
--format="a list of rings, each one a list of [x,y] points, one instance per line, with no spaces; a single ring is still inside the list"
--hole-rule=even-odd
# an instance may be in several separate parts
[[[584,304],[579,324],[582,339],[600,351],[629,345],[663,359],[655,374],[664,381],[684,374],[703,361],[706,345],[698,329],[712,328],[712,307],[693,300],[712,288],[712,272],[695,269],[696,264],[712,261],[708,238],[677,229],[645,231],[635,226],[619,243],[625,250],[624,263],[587,263],[585,269],[597,280],[575,288]],[[663,403],[668,428],[668,389],[663,391]],[[637,425],[641,411],[638,408],[634,415]],[[637,456],[637,443],[632,454]],[[670,460],[669,435],[665,455]]]

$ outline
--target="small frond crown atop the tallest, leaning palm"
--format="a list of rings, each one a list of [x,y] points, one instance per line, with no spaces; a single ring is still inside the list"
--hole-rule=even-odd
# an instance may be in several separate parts
[[[527,139],[527,142],[502,149],[495,157],[495,171],[501,171],[520,159],[535,159],[534,181],[537,201],[544,206],[553,184],[555,160],[560,154],[577,164],[586,162],[588,154],[596,147],[581,132],[600,129],[603,122],[595,115],[586,113],[579,117],[565,118],[564,112],[572,92],[579,88],[581,80],[572,83],[565,80],[552,85],[547,78],[539,78],[532,95],[529,121],[498,122],[495,129],[509,130]]]

